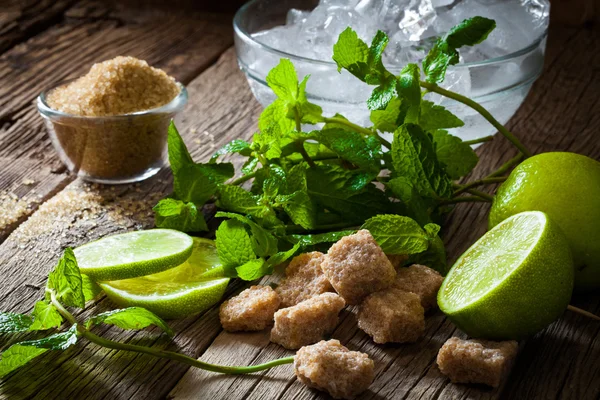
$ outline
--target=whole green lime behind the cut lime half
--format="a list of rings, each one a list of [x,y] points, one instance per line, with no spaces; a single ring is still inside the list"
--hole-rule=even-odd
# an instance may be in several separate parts
[[[600,162],[563,152],[528,158],[498,188],[489,227],[531,210],[548,214],[565,233],[575,287],[600,288]]]

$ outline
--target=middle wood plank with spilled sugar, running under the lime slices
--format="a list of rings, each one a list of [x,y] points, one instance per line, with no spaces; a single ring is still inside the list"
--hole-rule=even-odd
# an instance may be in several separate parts
[[[222,85],[226,80],[229,85]],[[249,90],[240,91],[245,87],[232,50],[188,85],[191,101],[180,118],[179,128],[195,157],[207,159],[216,146],[253,133],[260,106]],[[168,171],[136,185],[71,183],[0,245],[3,287],[0,309],[28,311],[39,299],[48,270],[66,246],[151,226],[152,205],[170,190]],[[233,285],[231,290],[238,287]],[[81,317],[108,306],[108,300],[103,300],[85,310]],[[221,330],[215,308],[201,317],[174,321],[172,326],[177,332],[173,342],[166,341],[156,330],[122,333],[118,329],[100,328],[99,332],[107,332],[108,337],[117,340],[199,357]],[[165,397],[187,369],[178,363],[106,351],[89,343],[43,357],[39,363],[26,366],[0,383],[0,397],[159,399]]]

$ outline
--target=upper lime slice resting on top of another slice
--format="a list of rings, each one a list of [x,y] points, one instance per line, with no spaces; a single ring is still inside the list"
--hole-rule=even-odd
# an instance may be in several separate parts
[[[175,267],[192,254],[192,238],[172,229],[107,236],[77,247],[82,274],[95,281],[135,278]]]

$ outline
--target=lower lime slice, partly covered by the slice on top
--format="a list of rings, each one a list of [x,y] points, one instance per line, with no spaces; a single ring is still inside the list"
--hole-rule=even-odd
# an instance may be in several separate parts
[[[216,304],[228,283],[214,242],[194,238],[192,255],[183,264],[153,275],[100,282],[100,286],[119,306],[144,307],[171,319],[197,314]]]

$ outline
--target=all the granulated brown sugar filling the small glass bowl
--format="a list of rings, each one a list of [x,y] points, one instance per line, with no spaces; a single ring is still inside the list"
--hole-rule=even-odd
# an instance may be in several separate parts
[[[48,106],[69,115],[42,114],[71,171],[91,180],[128,181],[163,165],[168,125],[178,110],[132,113],[168,104],[179,93],[164,71],[116,57],[48,93]]]

